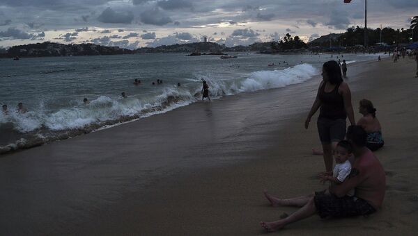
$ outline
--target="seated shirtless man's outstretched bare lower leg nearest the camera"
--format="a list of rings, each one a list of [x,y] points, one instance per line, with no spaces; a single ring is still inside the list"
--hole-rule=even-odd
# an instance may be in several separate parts
[[[312,196],[307,204],[305,204],[302,208],[297,210],[296,212],[293,212],[289,217],[285,219],[281,219],[279,221],[273,221],[273,222],[263,222],[261,221],[260,224],[265,230],[268,232],[274,232],[277,231],[287,224],[291,224],[295,221],[300,221],[301,219],[305,219],[307,217],[311,217],[316,212],[316,207],[314,203],[314,197]]]

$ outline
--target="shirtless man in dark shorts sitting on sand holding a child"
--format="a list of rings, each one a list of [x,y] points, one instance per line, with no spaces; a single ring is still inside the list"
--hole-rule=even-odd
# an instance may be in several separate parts
[[[311,194],[293,199],[279,199],[265,192],[273,206],[293,205],[299,210],[279,221],[261,222],[269,232],[318,213],[320,217],[352,217],[376,212],[385,197],[386,176],[378,158],[366,148],[366,131],[362,126],[350,126],[347,140],[353,145],[353,169],[340,185],[330,187],[330,194]],[[355,189],[355,196],[346,196]]]

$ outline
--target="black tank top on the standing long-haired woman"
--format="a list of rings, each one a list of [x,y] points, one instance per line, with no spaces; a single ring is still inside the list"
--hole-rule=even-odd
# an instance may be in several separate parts
[[[346,119],[346,109],[344,108],[343,96],[339,94],[339,85],[334,87],[331,92],[325,92],[325,83],[319,90],[320,110],[319,117],[327,119]]]

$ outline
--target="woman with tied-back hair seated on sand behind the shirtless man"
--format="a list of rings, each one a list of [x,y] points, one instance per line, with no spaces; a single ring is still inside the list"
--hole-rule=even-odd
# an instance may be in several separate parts
[[[366,130],[366,146],[371,151],[376,151],[385,144],[382,138],[382,127],[376,117],[376,108],[374,108],[373,103],[367,99],[362,99],[359,105],[359,112],[362,113],[363,117],[357,121],[357,125],[362,126],[364,130]]]

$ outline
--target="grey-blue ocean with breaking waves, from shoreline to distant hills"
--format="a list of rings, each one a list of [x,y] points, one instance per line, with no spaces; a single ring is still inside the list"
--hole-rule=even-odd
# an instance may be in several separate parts
[[[213,100],[222,96],[303,83],[320,74],[327,60],[352,63],[378,57],[231,55],[238,58],[184,53],[2,58],[0,104],[6,104],[8,112],[0,112],[0,153],[75,137],[199,102],[202,80],[208,82],[210,98],[216,102]],[[141,83],[134,85],[135,79]],[[157,79],[163,83],[157,84]],[[90,103],[84,104],[84,98]],[[17,112],[19,102],[27,112]]]

